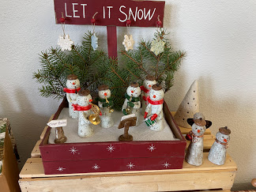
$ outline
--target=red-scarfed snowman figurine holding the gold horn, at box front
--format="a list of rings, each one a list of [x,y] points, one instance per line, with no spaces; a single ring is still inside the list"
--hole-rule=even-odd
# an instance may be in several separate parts
[[[82,89],[78,92],[77,104],[73,104],[73,110],[79,111],[78,118],[78,135],[79,137],[91,137],[93,128],[91,122],[88,120],[89,115],[92,113],[92,96],[88,89]]]

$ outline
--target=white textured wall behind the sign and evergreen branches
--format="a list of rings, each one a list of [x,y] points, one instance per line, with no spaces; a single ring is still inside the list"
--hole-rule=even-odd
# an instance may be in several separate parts
[[[173,47],[186,51],[186,60],[168,92],[168,105],[177,109],[190,84],[198,79],[201,112],[232,130],[228,152],[238,164],[234,190],[249,189],[256,178],[256,1],[168,0],[164,25]],[[39,96],[32,73],[40,69],[38,54],[55,46],[62,29],[55,24],[52,0],[2,1],[0,6],[0,117],[8,117],[17,138],[22,164],[59,102]],[[90,26],[66,26],[80,43]],[[140,32],[138,31],[140,30]],[[138,42],[151,40],[154,28],[132,28]],[[96,27],[101,47],[106,28]],[[126,28],[118,28],[119,47]]]

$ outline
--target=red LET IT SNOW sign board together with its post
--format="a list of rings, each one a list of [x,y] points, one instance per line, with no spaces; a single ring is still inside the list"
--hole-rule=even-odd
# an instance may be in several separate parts
[[[91,24],[96,13],[96,25],[107,26],[107,49],[110,58],[117,57],[116,26],[126,27],[130,15],[131,27],[156,27],[157,17],[163,23],[164,1],[133,0],[55,0],[55,19],[65,17],[65,24]]]

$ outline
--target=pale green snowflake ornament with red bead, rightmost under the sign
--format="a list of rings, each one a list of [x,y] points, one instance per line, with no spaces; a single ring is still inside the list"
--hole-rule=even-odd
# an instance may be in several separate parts
[[[162,26],[162,21],[160,21],[159,15],[157,17],[157,20],[158,21],[156,21],[156,27],[160,28]],[[150,51],[152,51],[155,55],[159,55],[160,53],[164,52],[165,42],[162,39],[163,37],[157,36],[156,40],[152,40],[151,42]]]

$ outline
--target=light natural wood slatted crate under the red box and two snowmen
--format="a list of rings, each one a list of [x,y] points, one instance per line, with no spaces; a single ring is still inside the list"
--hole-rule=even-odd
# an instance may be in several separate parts
[[[19,183],[22,191],[230,191],[234,183],[237,167],[231,156],[228,155],[226,163],[221,166],[207,159],[215,138],[210,130],[205,132],[204,163],[200,167],[184,161],[183,169],[44,175],[39,145],[46,129],[47,126],[21,170]],[[183,127],[180,130],[183,134],[190,131]]]

